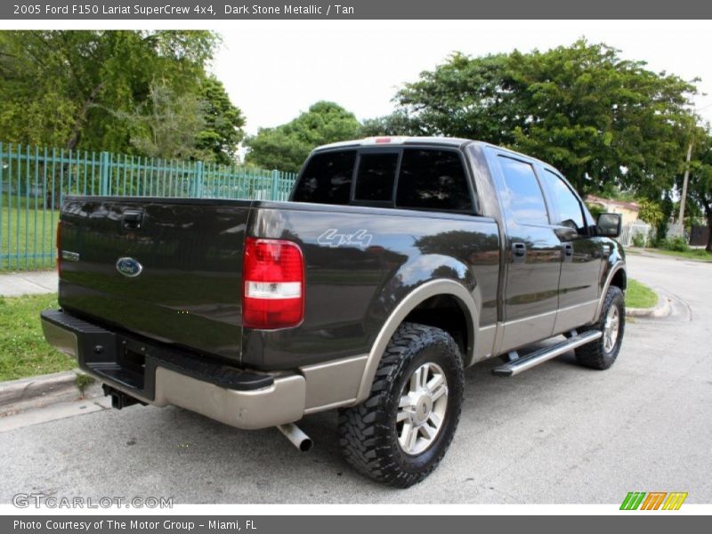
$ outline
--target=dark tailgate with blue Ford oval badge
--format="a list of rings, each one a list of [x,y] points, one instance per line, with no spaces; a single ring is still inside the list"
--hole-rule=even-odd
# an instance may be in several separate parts
[[[67,198],[60,305],[152,339],[239,360],[249,201]]]

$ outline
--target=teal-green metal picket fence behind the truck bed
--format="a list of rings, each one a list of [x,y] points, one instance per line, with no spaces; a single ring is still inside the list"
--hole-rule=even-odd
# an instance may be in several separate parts
[[[0,142],[0,271],[51,267],[65,195],[286,200],[296,175]]]

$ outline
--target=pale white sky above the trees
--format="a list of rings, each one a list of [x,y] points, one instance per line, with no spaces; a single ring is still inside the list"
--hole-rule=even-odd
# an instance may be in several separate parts
[[[709,20],[251,20],[221,21],[212,65],[247,133],[286,123],[315,101],[360,120],[390,113],[392,97],[454,51],[473,56],[571,44],[581,36],[684,79],[700,77],[695,105],[712,122]]]

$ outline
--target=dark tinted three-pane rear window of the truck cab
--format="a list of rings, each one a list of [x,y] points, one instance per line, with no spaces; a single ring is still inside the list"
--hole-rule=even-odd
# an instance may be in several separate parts
[[[309,158],[292,200],[473,212],[463,155],[454,149],[326,150]]]

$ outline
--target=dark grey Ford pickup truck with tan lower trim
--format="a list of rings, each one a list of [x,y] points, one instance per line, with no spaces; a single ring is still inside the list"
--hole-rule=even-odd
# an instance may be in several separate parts
[[[464,369],[514,376],[623,336],[616,214],[552,166],[482,142],[375,138],[312,152],[291,201],[70,197],[44,336],[121,409],[239,428],[339,409],[344,457],[407,487],[455,433]],[[521,356],[527,345],[563,335]]]

